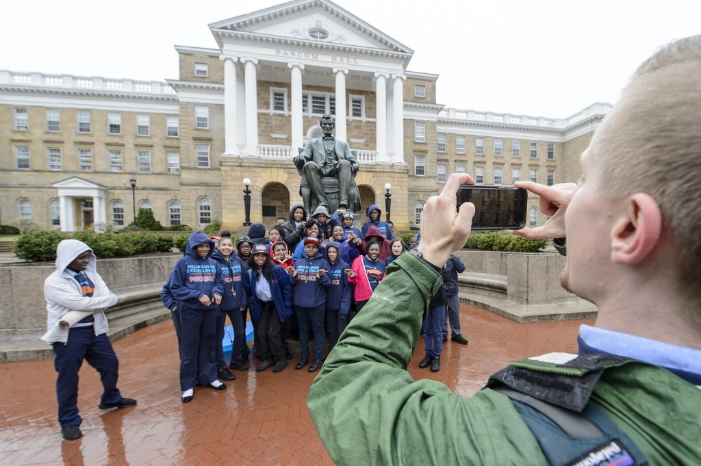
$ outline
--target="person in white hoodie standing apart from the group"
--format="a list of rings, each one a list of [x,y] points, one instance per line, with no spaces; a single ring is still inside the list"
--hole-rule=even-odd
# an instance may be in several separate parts
[[[56,249],[56,270],[44,281],[47,331],[41,337],[53,346],[58,373],[56,397],[61,433],[66,440],[81,437],[78,411],[78,372],[83,359],[100,373],[100,409],[129,408],[117,388],[117,355],[107,338],[104,309],[117,303],[95,268],[97,259],[79,240],[62,240]]]

